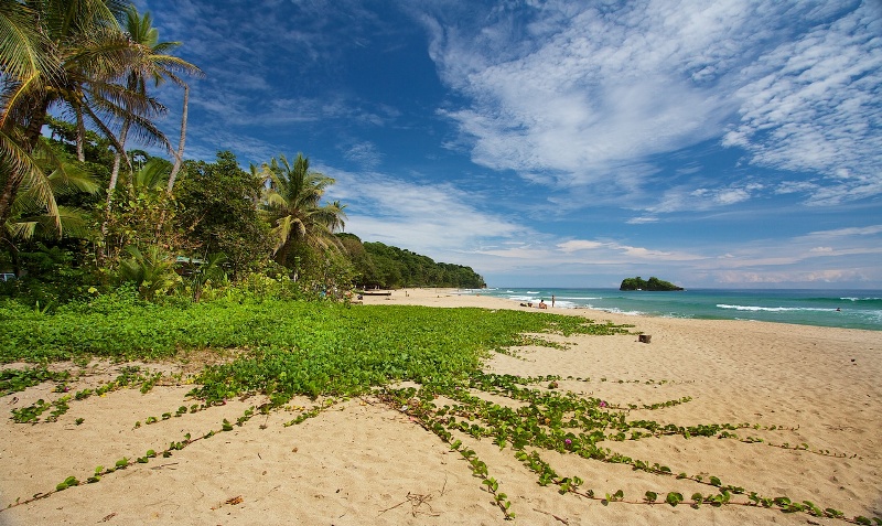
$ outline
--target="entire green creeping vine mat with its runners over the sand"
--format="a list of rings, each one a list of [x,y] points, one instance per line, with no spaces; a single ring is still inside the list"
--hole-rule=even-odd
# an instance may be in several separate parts
[[[662,419],[632,419],[634,411],[671,408],[691,402],[691,397],[623,404],[562,388],[564,382],[662,386],[673,384],[670,380],[518,377],[481,371],[482,363],[492,352],[517,355],[517,347],[525,345],[545,345],[568,352],[569,345],[560,343],[559,337],[557,343],[552,343],[542,334],[563,337],[573,334],[630,334],[628,326],[538,312],[401,305],[349,309],[276,300],[217,301],[189,309],[151,305],[144,308],[149,315],[138,309],[137,305],[122,305],[114,316],[106,316],[106,312],[93,313],[88,309],[75,313],[61,310],[57,314],[47,313],[39,319],[25,319],[26,313],[8,312],[4,332],[0,334],[0,361],[29,361],[40,365],[2,372],[0,393],[8,396],[43,382],[54,382],[55,391],[61,395],[52,401],[37,400],[13,409],[13,421],[51,423],[73,402],[122,388],[139,388],[147,393],[159,384],[193,384],[190,393],[193,401],[159,415],[144,416],[135,423],[136,428],[184,418],[234,398],[262,395],[266,402],[249,407],[238,418],[224,419],[217,428],[202,436],[187,434],[171,441],[168,447],[120,457],[108,462],[111,468],[98,466],[92,473],[72,474],[57,483],[54,490],[18,500],[10,506],[96,483],[133,464],[168,459],[197,440],[246,426],[258,415],[268,416],[286,408],[291,410],[290,404],[295,396],[310,397],[315,405],[310,409],[298,407],[298,416],[283,422],[284,426],[316,418],[338,401],[357,396],[376,398],[408,415],[448,443],[481,481],[481,487],[492,495],[506,519],[515,518],[517,513],[512,497],[503,481],[494,475],[494,466],[475,452],[480,448],[470,443],[492,441],[501,451],[512,451],[514,459],[536,476],[537,484],[605,505],[754,506],[853,524],[882,524],[878,518],[847,515],[811,501],[794,502],[786,496],[763,495],[719,476],[687,473],[614,451],[620,442],[675,436],[733,440],[753,447],[799,450],[832,458],[856,457],[842,451],[814,449],[807,443],[790,444],[783,439],[767,438],[795,427],[749,422],[682,426]],[[280,312],[284,315],[279,315]],[[21,319],[17,318],[19,314],[22,314]],[[119,337],[120,334],[126,337]],[[76,378],[45,366],[47,361],[60,358],[73,359],[80,366],[96,356],[114,361],[169,358],[191,350],[217,353],[229,361],[208,365],[186,379],[182,375],[164,377],[148,369],[125,366],[117,378],[73,394],[71,386]],[[392,387],[401,382],[410,382],[417,387]],[[505,405],[492,402],[485,399],[485,395],[507,401]],[[50,411],[47,418],[43,417],[46,411]],[[75,423],[83,423],[83,419]],[[260,426],[265,429],[266,421]],[[754,436],[755,431],[762,431],[760,434],[765,438]],[[587,487],[589,484],[584,476],[562,473],[552,466],[546,460],[547,452],[628,465],[659,480],[688,481],[696,485],[696,490],[685,495],[653,487],[634,496],[615,487]],[[415,498],[417,505],[428,502]]]

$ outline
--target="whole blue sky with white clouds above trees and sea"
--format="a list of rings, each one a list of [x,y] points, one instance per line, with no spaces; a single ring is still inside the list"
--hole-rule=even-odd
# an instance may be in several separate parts
[[[136,4],[206,73],[185,155],[303,152],[363,240],[491,287],[882,289],[882,2]]]

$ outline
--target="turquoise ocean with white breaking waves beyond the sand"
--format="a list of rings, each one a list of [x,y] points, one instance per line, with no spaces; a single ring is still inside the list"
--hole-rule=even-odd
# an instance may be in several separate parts
[[[757,320],[802,325],[882,331],[882,291],[830,289],[689,289],[678,292],[617,289],[491,288],[461,290],[463,294],[505,298],[516,302],[606,312],[704,320]]]

